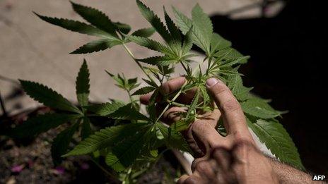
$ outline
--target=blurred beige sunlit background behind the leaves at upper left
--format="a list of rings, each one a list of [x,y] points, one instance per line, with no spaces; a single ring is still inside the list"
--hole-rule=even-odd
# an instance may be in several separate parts
[[[107,13],[114,21],[127,23],[135,30],[148,27],[142,18],[135,1],[126,0],[96,0],[76,1],[79,4],[93,6]],[[225,13],[234,8],[254,4],[259,0],[233,0],[233,1],[199,1],[204,11],[209,14]],[[153,11],[163,18],[163,5],[172,15],[170,6],[173,5],[183,13],[189,14],[197,1],[145,1]],[[114,47],[106,51],[86,55],[70,55],[69,52],[81,47],[92,37],[81,35],[60,27],[43,22],[32,11],[45,16],[56,16],[82,20],[71,8],[67,0],[59,1],[0,1],[0,75],[7,78],[34,80],[53,87],[64,97],[76,101],[74,82],[83,58],[86,58],[91,73],[90,98],[94,101],[106,101],[109,97],[127,99],[112,80],[105,73],[125,73],[127,77],[141,76],[141,71],[131,61],[121,47]],[[256,16],[259,8],[246,12],[248,16]],[[245,14],[245,12],[243,12]],[[173,16],[173,15],[172,15]],[[242,16],[242,15],[240,15]],[[158,39],[158,35],[154,35]],[[149,51],[134,44],[130,44],[136,56],[149,56]],[[0,80],[1,94],[6,97],[13,94],[10,82]],[[23,103],[22,103],[23,100]],[[28,98],[19,99],[19,102],[6,100],[8,109],[17,109],[20,104],[23,108],[37,104]]]

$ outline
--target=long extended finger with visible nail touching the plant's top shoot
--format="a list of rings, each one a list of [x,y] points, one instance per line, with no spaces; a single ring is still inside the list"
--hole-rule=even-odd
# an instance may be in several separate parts
[[[206,80],[206,85],[222,113],[225,129],[228,133],[248,133],[245,115],[230,89],[216,78]]]

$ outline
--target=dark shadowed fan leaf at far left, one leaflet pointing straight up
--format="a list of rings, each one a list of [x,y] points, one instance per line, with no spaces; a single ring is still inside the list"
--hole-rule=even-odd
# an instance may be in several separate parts
[[[45,85],[41,85],[37,82],[20,80],[23,89],[30,97],[46,106],[63,112],[43,114],[34,118],[29,118],[27,121],[23,122],[22,125],[13,128],[8,135],[12,137],[31,137],[51,128],[56,128],[63,123],[76,122],[74,125],[71,125],[69,128],[59,133],[52,142],[52,160],[54,164],[60,164],[62,160],[61,155],[66,153],[74,133],[78,130],[80,122],[83,122],[81,125],[81,137],[83,139],[93,133],[90,127],[90,121],[86,117],[86,109],[84,107],[88,105],[88,95],[90,92],[89,75],[86,60],[84,60],[76,78],[76,97],[78,103],[81,105],[81,109],[78,109],[78,107],[62,97],[61,94],[54,92],[54,90]]]

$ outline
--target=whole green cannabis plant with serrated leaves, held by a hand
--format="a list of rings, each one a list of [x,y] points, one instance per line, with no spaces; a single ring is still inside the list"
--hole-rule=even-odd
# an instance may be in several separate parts
[[[37,135],[68,123],[67,128],[52,142],[52,159],[55,163],[60,163],[63,157],[81,154],[89,154],[93,158],[105,157],[105,163],[119,173],[119,176],[124,176],[122,180],[129,180],[132,175],[136,176],[135,173],[151,166],[167,149],[180,149],[193,154],[180,131],[185,130],[200,114],[216,108],[212,105],[213,99],[207,93],[205,85],[206,79],[215,77],[230,87],[247,116],[249,127],[271,153],[282,162],[303,168],[291,137],[277,120],[282,112],[271,108],[267,100],[252,95],[252,88],[242,85],[238,68],[246,63],[249,57],[242,56],[231,47],[228,40],[213,32],[211,20],[198,4],[192,9],[192,18],[172,7],[175,16],[175,20],[172,20],[164,8],[165,24],[141,1],[136,0],[136,4],[151,27],[134,32],[131,32],[129,25],[114,22],[95,8],[73,2],[71,5],[74,11],[88,23],[50,18],[35,13],[42,20],[66,30],[99,37],[71,54],[88,54],[112,47],[123,47],[131,56],[131,61],[144,73],[146,78],[141,80],[146,86],[139,87],[141,80],[137,78],[126,78],[122,74],[106,70],[115,80],[117,87],[127,92],[129,102],[115,99],[103,104],[90,104],[89,71],[87,62],[83,61],[76,78],[76,106],[45,85],[21,80],[23,89],[30,97],[57,111],[29,118],[15,128],[11,135]],[[164,42],[150,39],[154,32],[157,32]],[[129,42],[157,51],[158,55],[136,58],[127,46]],[[204,61],[193,60],[194,56],[198,55],[191,51],[193,46],[204,52]],[[193,63],[196,63],[196,66]],[[177,65],[181,65],[185,70],[187,80],[180,90],[165,94],[160,85],[170,79]],[[178,103],[177,97],[191,89],[197,89],[192,102]],[[151,92],[150,102],[146,106],[147,114],[141,113],[142,107],[136,96]],[[156,111],[158,104],[164,106],[163,111]],[[187,111],[180,114],[180,121],[169,126],[161,121],[161,117],[170,106],[184,106]],[[95,119],[107,123],[95,122]],[[95,123],[98,125],[95,126]],[[218,132],[224,135],[223,125],[220,122],[219,124]],[[74,135],[79,135],[81,142],[75,142],[74,149],[68,151]]]

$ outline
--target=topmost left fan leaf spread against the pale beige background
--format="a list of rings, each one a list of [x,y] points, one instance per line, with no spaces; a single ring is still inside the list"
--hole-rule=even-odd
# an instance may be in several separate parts
[[[116,45],[129,42],[127,37],[125,37],[131,30],[129,25],[119,22],[112,22],[112,20],[110,20],[105,13],[102,13],[95,8],[82,6],[81,4],[76,4],[74,2],[71,2],[71,5],[74,11],[90,24],[64,18],[51,18],[35,13],[35,15],[42,20],[59,27],[63,27],[66,30],[101,38],[84,44],[78,49],[72,51],[71,54],[87,54],[95,51],[103,51]],[[132,35],[150,37],[153,35],[153,32],[155,32],[153,27],[148,27],[141,30],[136,30],[132,33]]]

